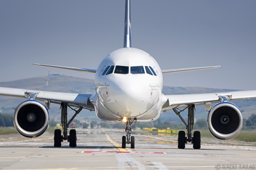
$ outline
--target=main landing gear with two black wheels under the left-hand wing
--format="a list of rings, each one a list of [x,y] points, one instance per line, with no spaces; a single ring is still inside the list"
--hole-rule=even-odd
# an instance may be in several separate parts
[[[61,135],[60,129],[55,129],[54,131],[54,147],[61,147],[61,142],[67,140],[69,142],[70,147],[77,146],[77,134],[75,129],[71,129],[68,135],[68,125],[72,122],[72,120],[76,117],[76,115],[83,109],[83,107],[79,107],[74,116],[68,122],[68,106],[66,103],[61,103],[61,125],[63,129],[63,135]]]

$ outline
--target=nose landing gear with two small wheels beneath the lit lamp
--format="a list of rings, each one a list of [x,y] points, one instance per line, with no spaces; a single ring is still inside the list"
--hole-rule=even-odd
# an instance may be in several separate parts
[[[124,117],[122,120],[126,125],[126,128],[124,129],[124,131],[126,131],[126,137],[127,137],[127,141],[126,141],[125,136],[122,137],[122,148],[126,148],[126,144],[131,144],[131,149],[134,149],[135,148],[135,138],[134,138],[134,136],[131,136],[131,133],[133,131],[133,129],[131,128],[131,125],[134,122],[134,120],[136,123],[136,119]],[[131,136],[131,140],[130,140],[130,136]]]

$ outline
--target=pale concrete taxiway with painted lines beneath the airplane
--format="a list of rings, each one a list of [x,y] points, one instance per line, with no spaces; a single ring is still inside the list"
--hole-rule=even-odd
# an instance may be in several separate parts
[[[193,149],[186,144],[185,149],[177,149],[175,137],[134,135],[135,149],[122,149],[123,135],[113,129],[78,132],[76,148],[68,142],[54,148],[53,136],[47,133],[38,140],[0,139],[0,169],[216,169],[216,164],[220,169],[223,165],[239,169],[239,164],[240,168],[256,164],[256,147],[250,145]]]

